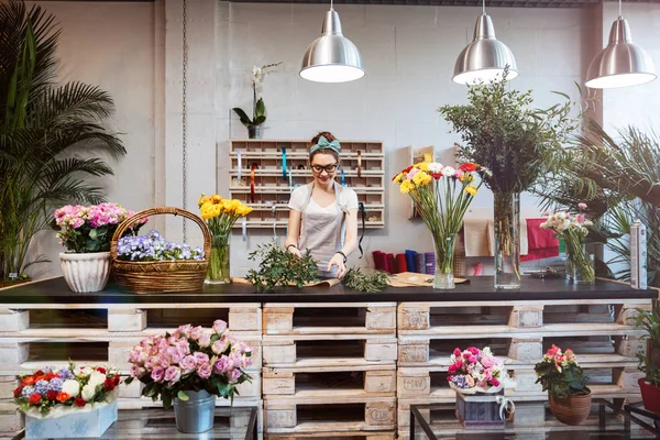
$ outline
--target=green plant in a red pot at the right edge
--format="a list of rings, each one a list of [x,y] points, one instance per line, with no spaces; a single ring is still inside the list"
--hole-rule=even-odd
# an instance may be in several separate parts
[[[641,391],[644,407],[660,414],[660,301],[653,300],[651,310],[636,308],[637,316],[630,317],[635,326],[647,331],[646,351],[637,354],[639,370],[645,373],[637,383]]]

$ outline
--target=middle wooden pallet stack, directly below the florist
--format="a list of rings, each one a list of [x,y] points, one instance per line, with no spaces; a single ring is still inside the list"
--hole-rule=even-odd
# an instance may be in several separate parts
[[[266,439],[396,437],[396,302],[263,312]]]

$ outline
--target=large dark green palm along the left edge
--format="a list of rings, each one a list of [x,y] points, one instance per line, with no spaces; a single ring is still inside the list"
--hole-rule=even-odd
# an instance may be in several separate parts
[[[0,285],[47,260],[32,256],[34,235],[55,207],[97,205],[111,175],[101,157],[125,154],[103,122],[111,97],[95,86],[57,82],[55,16],[22,1],[0,3]]]

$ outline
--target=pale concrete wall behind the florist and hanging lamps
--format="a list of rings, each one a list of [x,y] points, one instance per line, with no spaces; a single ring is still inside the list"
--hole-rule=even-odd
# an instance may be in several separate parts
[[[182,0],[42,4],[64,28],[65,78],[99,84],[117,101],[112,123],[127,133],[130,154],[116,165],[117,177],[108,179],[110,200],[131,209],[183,206]],[[532,89],[539,107],[558,102],[552,90],[576,98],[573,82],[583,82],[591,58],[602,47],[613,8],[491,8],[497,37],[513,50],[520,70],[512,87]],[[465,88],[453,84],[451,76],[458,54],[472,40],[480,9],[337,6],[344,35],[360,48],[367,75],[350,84],[308,82],[298,76],[301,56],[320,35],[327,9],[188,1],[188,209],[196,210],[202,191],[228,194],[228,140],[246,138],[230,109],[250,106],[250,72],[270,63],[284,65],[263,87],[268,111],[265,138],[309,139],[329,130],[340,139],[380,140],[385,144],[386,176],[408,164],[407,145],[432,144],[439,160],[451,161],[450,148],[459,136],[448,133],[449,125],[436,109],[465,101]],[[660,45],[653,41],[660,6],[626,4],[625,11],[636,42],[651,55],[660,55]],[[648,118],[646,109],[629,100],[636,97],[634,102],[641,103],[642,96],[648,100],[649,87],[660,87],[660,82],[606,92],[596,116],[605,123],[642,111]],[[351,257],[351,264],[369,265],[374,250],[431,250],[426,228],[407,220],[407,197],[386,187],[386,201],[387,227],[367,231],[363,243],[367,256]],[[492,195],[484,189],[469,216],[486,217],[491,207]],[[524,195],[522,207],[527,215],[538,213],[529,195]],[[182,239],[178,220],[153,224],[172,240]],[[284,232],[278,231],[280,240]],[[248,253],[271,237],[271,232],[253,230],[248,242],[233,237],[233,275],[244,274],[251,266]],[[199,240],[188,226],[188,241]],[[54,258],[51,273],[58,273],[55,238],[48,232],[40,243]]]

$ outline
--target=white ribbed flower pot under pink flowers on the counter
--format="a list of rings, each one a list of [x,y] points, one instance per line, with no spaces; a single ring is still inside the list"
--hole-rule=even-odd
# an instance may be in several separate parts
[[[88,254],[59,254],[64,279],[77,293],[99,292],[110,276],[110,252]]]

